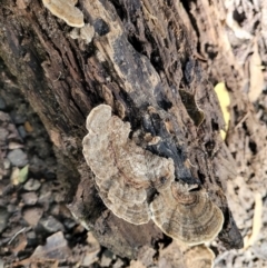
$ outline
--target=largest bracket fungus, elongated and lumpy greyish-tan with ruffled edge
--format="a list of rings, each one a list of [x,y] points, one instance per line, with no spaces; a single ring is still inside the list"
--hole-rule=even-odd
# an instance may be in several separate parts
[[[129,122],[111,116],[109,106],[92,109],[87,129],[82,152],[96,175],[105,205],[131,224],[148,222],[151,215],[147,189],[170,186],[175,179],[174,161],[155,156],[128,139]]]

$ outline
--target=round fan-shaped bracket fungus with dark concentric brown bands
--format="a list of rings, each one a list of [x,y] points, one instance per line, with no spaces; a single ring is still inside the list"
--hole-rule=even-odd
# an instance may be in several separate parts
[[[211,241],[222,228],[224,215],[197,186],[172,182],[150,204],[155,224],[168,236],[194,246]]]

